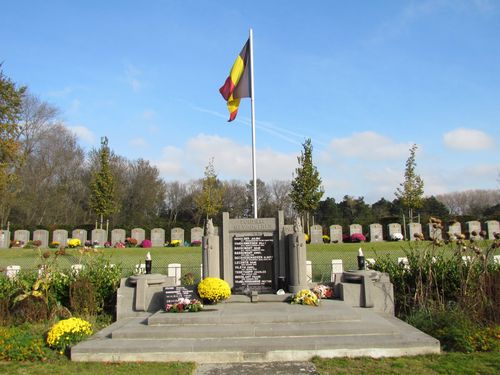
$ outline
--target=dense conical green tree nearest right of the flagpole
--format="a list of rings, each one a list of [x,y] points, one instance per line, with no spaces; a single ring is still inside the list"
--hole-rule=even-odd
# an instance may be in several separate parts
[[[299,167],[295,169],[296,176],[292,181],[290,197],[293,207],[305,219],[303,222],[309,233],[309,214],[316,211],[324,191],[319,172],[313,164],[311,139],[306,139],[302,146],[304,150],[297,157]]]

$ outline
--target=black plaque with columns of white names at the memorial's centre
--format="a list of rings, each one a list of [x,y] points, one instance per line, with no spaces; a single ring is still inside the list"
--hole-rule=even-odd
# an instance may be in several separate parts
[[[233,237],[234,291],[273,293],[274,236]]]

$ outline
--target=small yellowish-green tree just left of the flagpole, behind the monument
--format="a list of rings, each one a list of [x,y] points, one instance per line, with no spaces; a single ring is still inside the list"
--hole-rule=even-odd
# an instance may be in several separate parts
[[[210,159],[205,168],[205,178],[201,191],[195,196],[195,204],[206,218],[214,217],[222,208],[223,187],[217,179],[214,168],[214,159]]]

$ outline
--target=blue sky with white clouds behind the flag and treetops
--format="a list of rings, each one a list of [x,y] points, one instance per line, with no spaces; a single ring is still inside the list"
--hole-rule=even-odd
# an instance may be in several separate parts
[[[500,2],[7,1],[4,73],[165,180],[248,181],[250,101],[218,93],[254,30],[257,174],[306,138],[325,197],[394,198],[411,144],[426,195],[500,186]]]

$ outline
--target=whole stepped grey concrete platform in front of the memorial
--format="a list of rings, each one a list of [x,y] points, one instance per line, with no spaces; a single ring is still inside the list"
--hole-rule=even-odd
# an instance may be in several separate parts
[[[121,320],[74,346],[73,361],[307,361],[439,353],[439,341],[392,316],[339,300],[222,303],[199,313]]]

